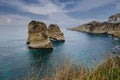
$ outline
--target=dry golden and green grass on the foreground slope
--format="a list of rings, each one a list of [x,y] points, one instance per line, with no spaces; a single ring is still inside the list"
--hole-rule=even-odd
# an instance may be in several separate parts
[[[66,61],[64,66],[56,67],[55,70],[53,76],[45,76],[42,80],[120,80],[120,55],[109,56],[93,69],[86,69],[81,65],[74,67],[70,61]],[[39,80],[39,76],[39,74],[27,76],[24,80]]]

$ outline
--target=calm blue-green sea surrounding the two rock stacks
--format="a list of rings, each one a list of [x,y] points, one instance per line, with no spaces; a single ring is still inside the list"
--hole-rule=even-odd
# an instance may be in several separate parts
[[[23,78],[31,71],[40,72],[41,78],[55,64],[63,65],[67,58],[72,64],[87,67],[107,56],[107,51],[120,45],[107,35],[92,35],[62,29],[64,43],[54,43],[53,51],[29,50],[26,46],[27,28],[0,28],[0,80]],[[41,69],[41,66],[44,67]]]

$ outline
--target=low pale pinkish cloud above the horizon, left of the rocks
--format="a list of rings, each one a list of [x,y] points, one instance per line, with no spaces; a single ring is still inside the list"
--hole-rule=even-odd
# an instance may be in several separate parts
[[[26,26],[30,20],[30,18],[19,15],[0,15],[0,25]]]

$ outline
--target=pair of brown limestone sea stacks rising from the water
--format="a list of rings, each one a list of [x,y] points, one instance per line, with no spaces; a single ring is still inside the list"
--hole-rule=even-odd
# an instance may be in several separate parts
[[[53,49],[52,40],[64,42],[64,34],[56,24],[47,25],[41,21],[31,21],[28,24],[27,45],[29,49]]]

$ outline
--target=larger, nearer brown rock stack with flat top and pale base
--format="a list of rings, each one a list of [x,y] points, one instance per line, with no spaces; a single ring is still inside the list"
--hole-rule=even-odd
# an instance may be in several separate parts
[[[28,48],[52,49],[53,45],[46,34],[47,26],[40,21],[31,21],[28,24]]]

